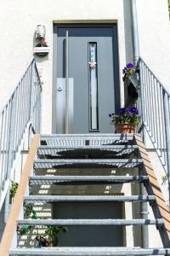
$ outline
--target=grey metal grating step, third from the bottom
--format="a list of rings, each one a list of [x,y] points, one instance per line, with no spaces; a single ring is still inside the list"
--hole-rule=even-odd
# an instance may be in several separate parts
[[[25,202],[54,201],[155,201],[155,195],[27,195]]]

